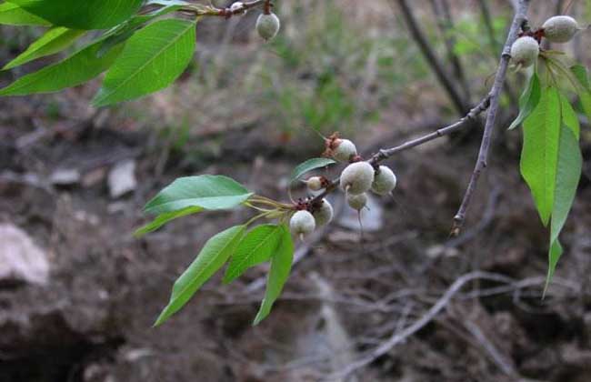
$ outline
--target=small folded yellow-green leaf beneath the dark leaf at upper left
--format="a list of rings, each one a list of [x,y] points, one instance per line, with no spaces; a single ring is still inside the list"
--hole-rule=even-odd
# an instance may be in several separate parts
[[[12,69],[13,67],[26,64],[37,58],[45,57],[45,55],[54,55],[72,45],[78,37],[84,34],[85,31],[68,29],[63,26],[51,28],[45,33],[45,35],[35,41],[35,43],[31,44],[25,52],[18,55],[2,69]]]

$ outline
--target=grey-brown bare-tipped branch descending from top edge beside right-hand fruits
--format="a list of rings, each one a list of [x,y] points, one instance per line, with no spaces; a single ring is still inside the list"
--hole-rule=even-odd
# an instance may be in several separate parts
[[[501,55],[498,70],[496,71],[495,83],[490,91],[490,108],[488,109],[488,114],[486,115],[485,132],[482,136],[482,142],[478,152],[478,159],[476,161],[476,166],[474,167],[474,172],[470,177],[470,182],[466,188],[466,194],[462,200],[462,205],[459,207],[456,216],[454,216],[454,226],[451,232],[452,236],[459,235],[460,231],[462,230],[462,226],[464,226],[464,221],[466,219],[466,211],[470,206],[472,197],[474,196],[474,192],[476,190],[476,184],[478,183],[478,179],[480,178],[482,171],[487,166],[488,153],[490,151],[490,144],[496,125],[499,98],[501,90],[503,89],[503,85],[505,84],[506,71],[509,65],[509,60],[511,59],[511,45],[513,45],[515,42],[517,34],[522,25],[526,23],[528,8],[529,0],[519,0],[516,8],[516,14],[513,18],[513,23],[511,24],[509,34],[506,38],[506,43],[505,47],[503,48],[503,54]]]

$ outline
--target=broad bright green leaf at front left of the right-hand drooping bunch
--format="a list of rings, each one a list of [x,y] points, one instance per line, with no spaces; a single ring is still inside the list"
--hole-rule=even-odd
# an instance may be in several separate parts
[[[560,136],[560,97],[556,87],[542,89],[536,109],[524,121],[521,175],[526,180],[542,222],[547,226],[554,204]]]

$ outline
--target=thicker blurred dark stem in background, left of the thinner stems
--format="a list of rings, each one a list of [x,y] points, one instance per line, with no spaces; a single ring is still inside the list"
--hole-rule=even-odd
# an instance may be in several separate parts
[[[450,79],[451,76],[446,73],[444,65],[441,64],[441,61],[431,48],[431,45],[427,40],[426,35],[423,34],[423,31],[418,25],[415,15],[413,14],[410,5],[408,5],[407,0],[396,0],[396,3],[402,11],[402,15],[404,15],[405,17],[408,29],[410,30],[410,33],[413,36],[413,38],[416,40],[416,44],[421,49],[423,55],[425,55],[427,64],[431,66],[431,69],[435,73],[437,80],[446,89],[446,92],[451,98],[452,103],[456,107],[458,114],[465,115],[468,112],[469,106],[467,106],[466,101],[457,91],[456,85],[454,85],[454,83]]]

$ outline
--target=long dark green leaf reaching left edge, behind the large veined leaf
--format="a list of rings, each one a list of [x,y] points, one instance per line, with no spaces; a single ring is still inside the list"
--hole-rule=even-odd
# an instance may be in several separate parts
[[[97,53],[102,44],[102,40],[96,41],[59,63],[45,66],[30,75],[24,75],[11,85],[0,89],[0,95],[51,93],[84,84],[112,65],[123,49],[123,45],[117,45],[107,55],[99,57]]]

